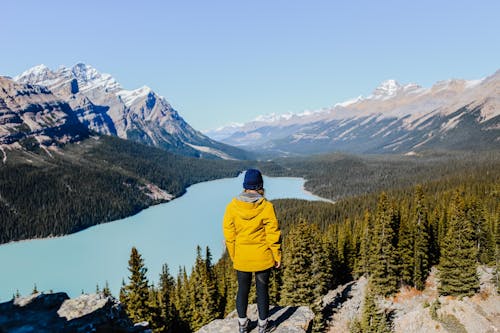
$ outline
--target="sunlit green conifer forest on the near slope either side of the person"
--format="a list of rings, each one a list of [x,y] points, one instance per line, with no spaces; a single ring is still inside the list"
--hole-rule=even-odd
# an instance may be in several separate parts
[[[478,292],[478,265],[495,267],[500,288],[500,168],[457,171],[335,204],[274,201],[284,237],[271,303],[310,306],[313,331],[324,332],[329,313],[319,307],[320,298],[366,276],[365,307],[351,332],[391,332],[392,314],[374,299],[394,296],[401,287],[422,290],[431,267],[438,269],[440,295]],[[174,277],[166,263],[158,285],[151,285],[139,250],[132,249],[130,277],[120,292],[134,321],[149,321],[154,332],[194,332],[234,310],[237,282],[227,254],[214,263],[210,249],[198,248],[190,272],[180,268]]]

